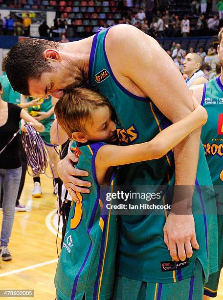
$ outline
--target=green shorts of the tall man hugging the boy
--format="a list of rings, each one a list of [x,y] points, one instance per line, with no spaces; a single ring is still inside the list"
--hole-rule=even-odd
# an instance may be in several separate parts
[[[175,283],[150,283],[118,276],[113,300],[202,300],[204,280],[199,260],[193,277]]]

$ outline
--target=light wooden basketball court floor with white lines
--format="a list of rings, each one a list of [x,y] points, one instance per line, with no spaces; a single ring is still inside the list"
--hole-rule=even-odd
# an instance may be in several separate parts
[[[0,289],[31,289],[36,300],[54,300],[54,274],[57,265],[56,207],[52,179],[41,177],[42,198],[32,199],[32,177],[26,175],[21,204],[29,212],[16,212],[9,250],[13,259],[0,264]],[[2,211],[0,211],[0,224]],[[54,221],[53,221],[54,220]],[[60,250],[60,238],[58,249]],[[4,299],[4,298],[1,298]],[[6,298],[5,298],[6,299]],[[18,298],[10,298],[18,299]],[[27,299],[27,298],[19,298]],[[174,298],[173,299],[177,299]],[[223,300],[223,275],[218,297]]]

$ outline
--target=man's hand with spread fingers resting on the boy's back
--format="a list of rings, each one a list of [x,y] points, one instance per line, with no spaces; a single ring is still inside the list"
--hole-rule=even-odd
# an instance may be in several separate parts
[[[73,164],[78,162],[78,158],[73,153],[67,154],[67,156],[62,159],[57,165],[57,172],[59,177],[62,179],[68,193],[70,194],[73,201],[79,203],[76,192],[88,194],[91,183],[89,181],[84,181],[76,178],[75,176],[88,176],[88,172],[76,169]]]

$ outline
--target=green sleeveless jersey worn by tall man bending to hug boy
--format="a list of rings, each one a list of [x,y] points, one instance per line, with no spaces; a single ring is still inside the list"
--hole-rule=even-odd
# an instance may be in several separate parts
[[[105,51],[106,35],[111,28],[99,30],[94,36],[89,57],[89,84],[104,94],[115,109],[121,145],[146,142],[171,123],[152,100],[133,95],[113,75]],[[174,156],[170,151],[160,159],[122,166],[117,180],[119,185],[134,187],[174,185],[174,169]],[[205,201],[201,185],[213,188],[202,144],[196,178],[197,190],[193,197],[193,204],[201,211],[195,216],[200,250],[194,251],[188,266],[180,270],[175,268],[173,272],[162,272],[162,262],[172,260],[163,239],[167,212],[163,210],[157,214],[154,210],[150,215],[121,216],[119,275],[147,282],[176,282],[194,274],[197,258],[201,261],[206,277],[217,271],[217,230],[212,232],[213,227],[217,227],[217,218],[206,213],[210,210],[208,205],[216,203],[214,198],[212,201]],[[164,195],[161,204],[166,201]],[[213,235],[216,235],[216,238],[213,238]]]

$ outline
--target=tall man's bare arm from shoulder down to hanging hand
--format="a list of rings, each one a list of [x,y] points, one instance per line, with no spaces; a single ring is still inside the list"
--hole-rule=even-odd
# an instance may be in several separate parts
[[[158,43],[140,30],[132,26],[127,28],[125,25],[113,27],[108,33],[106,51],[112,47],[114,39],[112,33],[119,47],[115,48],[115,58],[108,56],[108,59],[116,59],[115,70],[117,74],[122,74],[123,82],[130,80],[132,84],[136,84],[141,94],[151,98],[172,123],[188,115],[193,110],[189,89],[172,59]],[[200,135],[201,129],[197,129],[175,147],[175,185],[195,185]],[[191,194],[193,195],[192,191]],[[164,227],[165,241],[175,260],[179,258],[184,260],[186,255],[190,257],[192,247],[198,249],[194,219],[191,215],[191,194],[187,200],[181,201],[185,215],[178,215],[176,207],[176,211],[172,210],[168,216]],[[177,201],[178,199],[173,199],[173,203]]]

